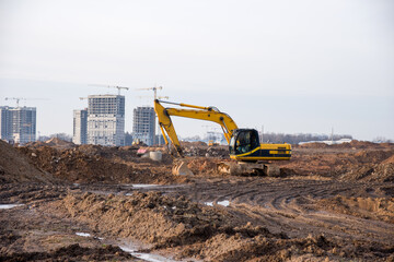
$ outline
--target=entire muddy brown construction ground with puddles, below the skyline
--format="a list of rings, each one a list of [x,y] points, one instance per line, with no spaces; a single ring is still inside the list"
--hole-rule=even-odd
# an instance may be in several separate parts
[[[279,177],[141,150],[0,141],[0,261],[394,261],[394,144],[294,145]]]

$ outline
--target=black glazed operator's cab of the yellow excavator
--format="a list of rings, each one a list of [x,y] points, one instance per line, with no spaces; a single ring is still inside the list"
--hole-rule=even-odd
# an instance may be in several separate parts
[[[245,154],[259,146],[258,133],[254,129],[237,130],[230,141],[230,154]]]

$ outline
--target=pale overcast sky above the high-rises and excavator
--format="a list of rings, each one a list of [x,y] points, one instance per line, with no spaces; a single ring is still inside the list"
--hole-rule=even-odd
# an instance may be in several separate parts
[[[21,105],[40,134],[72,134],[79,97],[108,84],[131,87],[126,131],[152,104],[135,88],[158,85],[243,128],[394,140],[392,0],[0,0],[0,106],[36,98]],[[216,127],[174,122],[182,136]]]

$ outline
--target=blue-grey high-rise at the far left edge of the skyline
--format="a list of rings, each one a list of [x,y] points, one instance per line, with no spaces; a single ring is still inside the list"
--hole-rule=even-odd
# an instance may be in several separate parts
[[[0,107],[0,139],[25,144],[36,141],[35,107]]]

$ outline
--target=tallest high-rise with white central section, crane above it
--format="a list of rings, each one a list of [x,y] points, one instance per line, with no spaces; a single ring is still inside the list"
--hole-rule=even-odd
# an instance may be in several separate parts
[[[125,96],[88,96],[88,144],[125,144]]]

